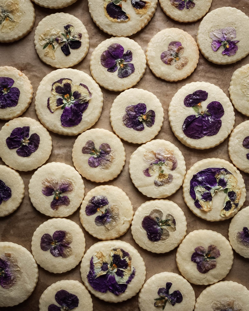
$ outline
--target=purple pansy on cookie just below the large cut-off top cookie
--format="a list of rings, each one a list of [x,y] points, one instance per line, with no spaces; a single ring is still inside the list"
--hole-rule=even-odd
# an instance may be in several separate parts
[[[124,53],[124,48],[118,43],[113,43],[108,46],[107,50],[101,54],[101,65],[108,68],[108,72],[115,72],[118,68],[118,77],[126,78],[135,71],[132,63],[132,52],[127,50]],[[124,64],[127,63],[127,64]]]

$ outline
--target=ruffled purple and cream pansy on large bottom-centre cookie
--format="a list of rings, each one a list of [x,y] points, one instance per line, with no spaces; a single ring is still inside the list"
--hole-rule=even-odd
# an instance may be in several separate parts
[[[90,261],[87,280],[93,289],[118,296],[125,292],[135,276],[129,253],[122,248],[113,248],[108,256],[98,251]]]

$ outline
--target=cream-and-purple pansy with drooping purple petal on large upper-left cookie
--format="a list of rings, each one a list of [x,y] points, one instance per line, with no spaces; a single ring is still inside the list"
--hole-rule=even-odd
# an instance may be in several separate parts
[[[85,84],[73,84],[71,79],[62,78],[52,84],[52,96],[48,98],[47,107],[51,113],[63,109],[60,120],[64,127],[78,125],[82,114],[88,107],[92,93]]]

